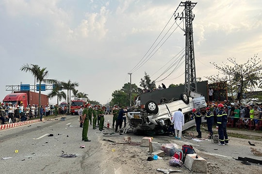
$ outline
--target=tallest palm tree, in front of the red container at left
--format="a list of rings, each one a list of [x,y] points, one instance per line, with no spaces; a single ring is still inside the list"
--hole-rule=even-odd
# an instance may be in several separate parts
[[[23,72],[30,72],[33,74],[33,76],[36,78],[36,81],[39,82],[39,109],[38,114],[40,115],[40,107],[41,107],[41,83],[47,83],[47,84],[57,84],[57,80],[55,79],[46,79],[49,75],[49,72],[47,71],[47,68],[40,68],[38,65],[34,64],[24,64],[21,68],[21,71]]]

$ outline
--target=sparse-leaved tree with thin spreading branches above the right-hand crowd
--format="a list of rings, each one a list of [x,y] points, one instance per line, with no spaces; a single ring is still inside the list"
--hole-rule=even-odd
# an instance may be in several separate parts
[[[256,74],[256,76],[261,77],[262,73],[262,60],[255,55],[253,58],[248,58],[246,63],[239,64],[236,62],[235,58],[228,58],[227,63],[222,62],[222,65],[217,65],[211,63],[214,67],[222,74],[226,76],[232,76],[237,83],[240,83],[240,100],[242,99],[243,91],[245,90],[245,82],[250,80],[250,74]],[[234,78],[237,77],[237,78]],[[230,80],[230,79],[229,79]],[[231,83],[231,82],[230,82]]]

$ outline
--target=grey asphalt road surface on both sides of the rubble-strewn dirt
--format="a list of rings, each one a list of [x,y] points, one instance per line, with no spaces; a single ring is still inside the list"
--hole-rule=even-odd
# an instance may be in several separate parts
[[[112,115],[105,116],[112,122]],[[113,132],[114,130],[105,130]],[[48,136],[53,134],[54,136]],[[127,134],[132,141],[139,142],[143,136]],[[122,136],[127,136],[122,135]],[[204,134],[205,135],[205,134]],[[207,135],[207,134],[206,134]],[[120,142],[123,137],[112,137]],[[115,174],[115,169],[104,160],[108,157],[102,141],[103,133],[89,127],[88,138],[91,142],[82,141],[82,128],[78,116],[66,116],[66,121],[53,120],[38,122],[17,128],[0,131],[0,170],[2,174]],[[210,140],[175,140],[171,136],[154,136],[154,142],[161,144],[191,144],[197,153],[207,153],[219,158],[255,157],[250,152],[246,139],[229,137],[229,145],[219,146]],[[109,138],[110,139],[110,138]],[[256,148],[262,149],[261,141],[252,141]],[[85,148],[80,148],[85,145]],[[64,151],[64,152],[63,152]],[[62,154],[75,154],[75,158],[62,158]],[[3,160],[2,158],[11,157]]]

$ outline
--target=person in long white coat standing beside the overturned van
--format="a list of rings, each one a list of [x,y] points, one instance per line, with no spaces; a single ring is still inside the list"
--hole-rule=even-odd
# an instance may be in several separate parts
[[[182,113],[182,109],[179,108],[178,111],[174,112],[174,115],[172,117],[172,123],[174,123],[174,129],[175,129],[175,139],[181,139],[182,135],[182,127],[184,126],[184,115]]]

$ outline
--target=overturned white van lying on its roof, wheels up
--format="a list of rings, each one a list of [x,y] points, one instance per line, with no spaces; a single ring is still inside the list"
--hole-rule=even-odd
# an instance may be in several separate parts
[[[154,101],[148,101],[145,109],[133,110],[128,113],[129,125],[138,131],[156,131],[156,133],[164,133],[168,131],[171,125],[172,116],[179,108],[185,116],[185,124],[183,131],[194,126],[195,120],[191,119],[191,111],[193,108],[205,108],[206,101],[204,97],[191,98],[185,93],[180,95],[180,100],[161,99],[161,104],[157,105]],[[203,117],[204,118],[204,117]],[[202,122],[206,120],[202,119]]]

